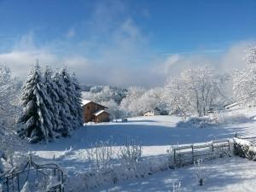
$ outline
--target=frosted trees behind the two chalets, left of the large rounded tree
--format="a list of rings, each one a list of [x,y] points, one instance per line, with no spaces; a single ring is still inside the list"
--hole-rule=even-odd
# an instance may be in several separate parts
[[[152,108],[166,110],[162,102],[163,88],[146,90],[143,87],[131,86],[127,89],[111,86],[92,86],[89,91],[83,92],[83,98],[101,103],[108,107],[112,119],[125,116],[142,115]]]

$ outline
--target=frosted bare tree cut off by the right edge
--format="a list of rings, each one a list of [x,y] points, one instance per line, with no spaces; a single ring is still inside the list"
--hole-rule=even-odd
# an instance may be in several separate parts
[[[233,94],[237,102],[256,105],[256,46],[247,49],[245,68],[233,73]]]

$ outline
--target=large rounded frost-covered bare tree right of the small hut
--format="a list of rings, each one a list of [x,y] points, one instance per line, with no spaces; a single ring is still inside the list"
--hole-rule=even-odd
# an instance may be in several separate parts
[[[222,102],[225,79],[208,66],[184,70],[166,80],[164,99],[172,112],[206,115]]]

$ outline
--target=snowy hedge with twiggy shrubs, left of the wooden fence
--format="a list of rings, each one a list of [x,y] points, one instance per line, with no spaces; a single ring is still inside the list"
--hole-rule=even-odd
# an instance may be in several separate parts
[[[167,158],[163,161],[142,158],[143,148],[139,140],[127,138],[124,146],[115,150],[112,139],[95,143],[87,149],[90,162],[88,171],[67,178],[67,190],[82,192],[106,184],[131,178],[147,177],[154,172],[168,169]],[[73,183],[73,180],[76,182]]]

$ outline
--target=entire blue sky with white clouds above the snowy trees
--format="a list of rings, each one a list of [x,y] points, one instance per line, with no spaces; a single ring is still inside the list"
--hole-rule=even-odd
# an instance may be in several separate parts
[[[191,63],[227,67],[255,41],[255,10],[255,0],[0,0],[0,62],[21,77],[39,59],[88,84],[160,85]]]

